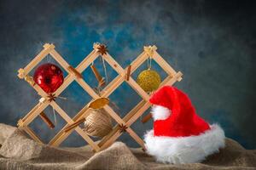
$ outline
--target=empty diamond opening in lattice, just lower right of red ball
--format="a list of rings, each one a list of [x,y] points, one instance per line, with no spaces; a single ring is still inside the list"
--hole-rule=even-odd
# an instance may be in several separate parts
[[[61,97],[66,99],[61,99]],[[90,95],[84,91],[84,88],[82,88],[78,82],[73,81],[60,94],[60,98],[56,98],[56,103],[72,118],[73,116],[76,116],[91,99]]]

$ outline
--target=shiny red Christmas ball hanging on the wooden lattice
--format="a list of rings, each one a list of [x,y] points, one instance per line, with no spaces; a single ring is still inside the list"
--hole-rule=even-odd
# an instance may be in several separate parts
[[[34,73],[33,80],[44,92],[51,94],[61,86],[64,77],[63,72],[57,65],[47,63],[38,66]]]

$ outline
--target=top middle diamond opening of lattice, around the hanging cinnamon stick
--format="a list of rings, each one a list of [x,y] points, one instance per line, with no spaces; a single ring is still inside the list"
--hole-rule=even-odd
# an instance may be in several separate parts
[[[106,65],[106,71],[108,75],[108,82],[106,82],[105,86],[108,85],[109,82],[112,82],[115,77],[118,76],[118,73],[113,70],[111,65],[108,64],[108,62],[105,60],[104,61]],[[90,64],[92,65],[92,64]],[[82,75],[84,77],[84,81],[87,82],[91,88],[96,88],[98,86],[98,81],[93,73],[93,71],[90,68],[90,65],[83,71]],[[105,76],[105,71],[102,63],[102,57],[99,56],[94,60],[94,66],[96,67],[96,70],[100,73],[102,77],[105,78],[106,81],[106,76]]]

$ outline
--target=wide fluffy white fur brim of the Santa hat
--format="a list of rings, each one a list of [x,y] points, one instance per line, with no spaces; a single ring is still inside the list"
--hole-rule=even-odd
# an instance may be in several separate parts
[[[154,136],[150,130],[144,136],[147,153],[156,158],[156,161],[164,163],[194,163],[205,158],[219,148],[224,148],[224,130],[217,124],[211,129],[197,136],[189,137],[165,137]]]

